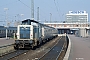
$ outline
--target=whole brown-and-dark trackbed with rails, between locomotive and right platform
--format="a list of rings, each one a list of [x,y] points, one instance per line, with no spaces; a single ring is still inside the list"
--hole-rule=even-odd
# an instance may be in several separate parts
[[[64,36],[57,37],[36,50],[17,50],[0,57],[0,60],[58,60],[64,42]]]

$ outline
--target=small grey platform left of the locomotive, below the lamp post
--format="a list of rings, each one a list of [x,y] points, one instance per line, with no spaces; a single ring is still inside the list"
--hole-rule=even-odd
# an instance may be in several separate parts
[[[11,45],[14,43],[15,43],[14,39],[0,38],[0,47]]]

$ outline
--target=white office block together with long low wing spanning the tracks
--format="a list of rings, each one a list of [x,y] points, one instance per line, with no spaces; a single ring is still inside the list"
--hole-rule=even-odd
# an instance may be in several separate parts
[[[44,24],[57,28],[59,34],[76,34],[76,31],[84,29],[85,32],[90,31],[90,23],[88,22],[88,13],[86,11],[69,11],[66,14],[65,22],[48,22]]]

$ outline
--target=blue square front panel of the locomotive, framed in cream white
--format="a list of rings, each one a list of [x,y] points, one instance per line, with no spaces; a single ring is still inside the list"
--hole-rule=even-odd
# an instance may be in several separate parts
[[[20,39],[30,39],[30,27],[20,27]]]

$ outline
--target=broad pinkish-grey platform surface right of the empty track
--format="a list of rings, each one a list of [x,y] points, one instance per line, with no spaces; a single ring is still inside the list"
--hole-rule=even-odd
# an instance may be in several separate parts
[[[71,40],[69,60],[90,60],[90,37],[69,35],[69,38]]]

